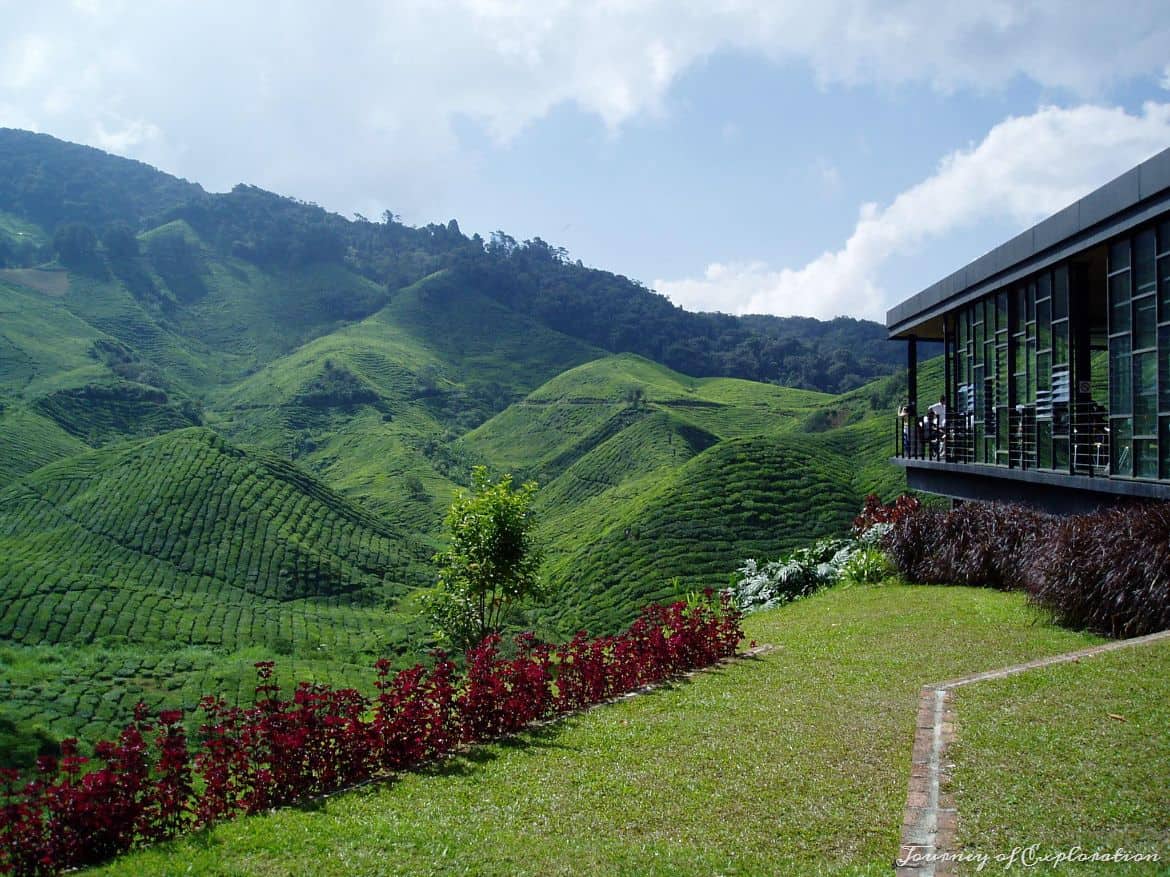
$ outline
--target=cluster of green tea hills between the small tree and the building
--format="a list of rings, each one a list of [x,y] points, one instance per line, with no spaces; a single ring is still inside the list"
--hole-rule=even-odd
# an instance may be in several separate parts
[[[532,621],[606,631],[647,602],[724,586],[749,557],[838,536],[866,493],[902,490],[888,463],[900,392],[895,379],[844,396],[693,379],[621,354],[558,375],[462,446],[542,484],[558,594]]]

